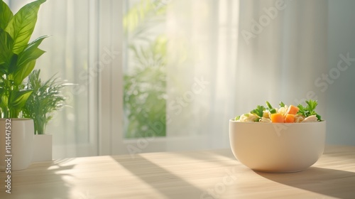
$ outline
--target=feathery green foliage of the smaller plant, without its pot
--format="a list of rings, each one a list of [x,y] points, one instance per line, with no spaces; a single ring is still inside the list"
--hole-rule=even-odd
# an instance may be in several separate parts
[[[65,97],[60,91],[65,85],[55,76],[42,82],[40,70],[33,70],[28,75],[24,88],[33,92],[23,107],[23,117],[33,119],[35,134],[44,134],[46,125],[53,118],[53,112],[64,106]]]

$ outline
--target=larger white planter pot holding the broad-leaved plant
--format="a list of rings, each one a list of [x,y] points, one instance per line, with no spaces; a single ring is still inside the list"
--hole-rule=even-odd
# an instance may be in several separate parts
[[[0,119],[0,171],[17,171],[30,166],[33,134],[32,119]]]

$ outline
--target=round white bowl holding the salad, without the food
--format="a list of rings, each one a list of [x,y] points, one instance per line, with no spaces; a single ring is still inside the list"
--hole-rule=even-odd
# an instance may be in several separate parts
[[[263,172],[288,173],[312,166],[324,151],[326,122],[262,123],[229,120],[234,156]]]

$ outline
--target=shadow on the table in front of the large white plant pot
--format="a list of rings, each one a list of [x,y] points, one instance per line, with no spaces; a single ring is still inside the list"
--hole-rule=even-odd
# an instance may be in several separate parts
[[[21,171],[11,171],[11,193],[6,193],[3,179],[6,173],[1,172],[0,198],[69,198],[70,184],[63,177],[70,176],[65,171],[75,165],[65,165],[67,160],[32,163]]]

